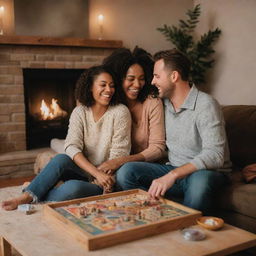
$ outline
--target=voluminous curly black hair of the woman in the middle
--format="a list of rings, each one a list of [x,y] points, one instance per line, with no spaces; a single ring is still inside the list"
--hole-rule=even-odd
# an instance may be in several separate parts
[[[123,80],[126,77],[128,69],[139,64],[145,75],[145,85],[138,95],[138,100],[143,102],[148,95],[157,95],[157,90],[151,85],[153,78],[154,61],[150,53],[142,48],[135,47],[133,51],[127,48],[119,48],[110,56],[103,60],[103,64],[108,66],[115,74],[117,79],[117,89],[122,103],[126,104],[125,93],[122,89]]]

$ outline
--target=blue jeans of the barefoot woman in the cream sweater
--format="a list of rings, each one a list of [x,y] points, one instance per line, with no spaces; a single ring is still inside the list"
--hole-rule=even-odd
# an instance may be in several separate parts
[[[59,181],[64,181],[56,186]],[[33,179],[23,192],[37,201],[63,201],[102,194],[102,189],[88,182],[85,171],[78,167],[69,156],[56,155]]]

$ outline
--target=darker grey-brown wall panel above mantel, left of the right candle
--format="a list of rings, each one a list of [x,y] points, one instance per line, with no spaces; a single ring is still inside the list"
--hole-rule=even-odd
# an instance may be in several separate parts
[[[88,37],[87,0],[14,0],[15,33]]]

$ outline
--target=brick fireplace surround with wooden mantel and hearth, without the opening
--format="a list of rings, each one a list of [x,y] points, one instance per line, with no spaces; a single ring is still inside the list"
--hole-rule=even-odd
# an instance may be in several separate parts
[[[100,64],[121,41],[0,36],[0,179],[33,174],[26,150],[23,68],[84,69]]]

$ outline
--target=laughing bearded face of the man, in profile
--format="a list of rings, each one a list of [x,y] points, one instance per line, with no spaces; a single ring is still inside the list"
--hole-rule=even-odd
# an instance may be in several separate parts
[[[152,84],[156,86],[160,98],[169,98],[172,95],[174,84],[171,71],[165,68],[163,59],[155,62]]]

